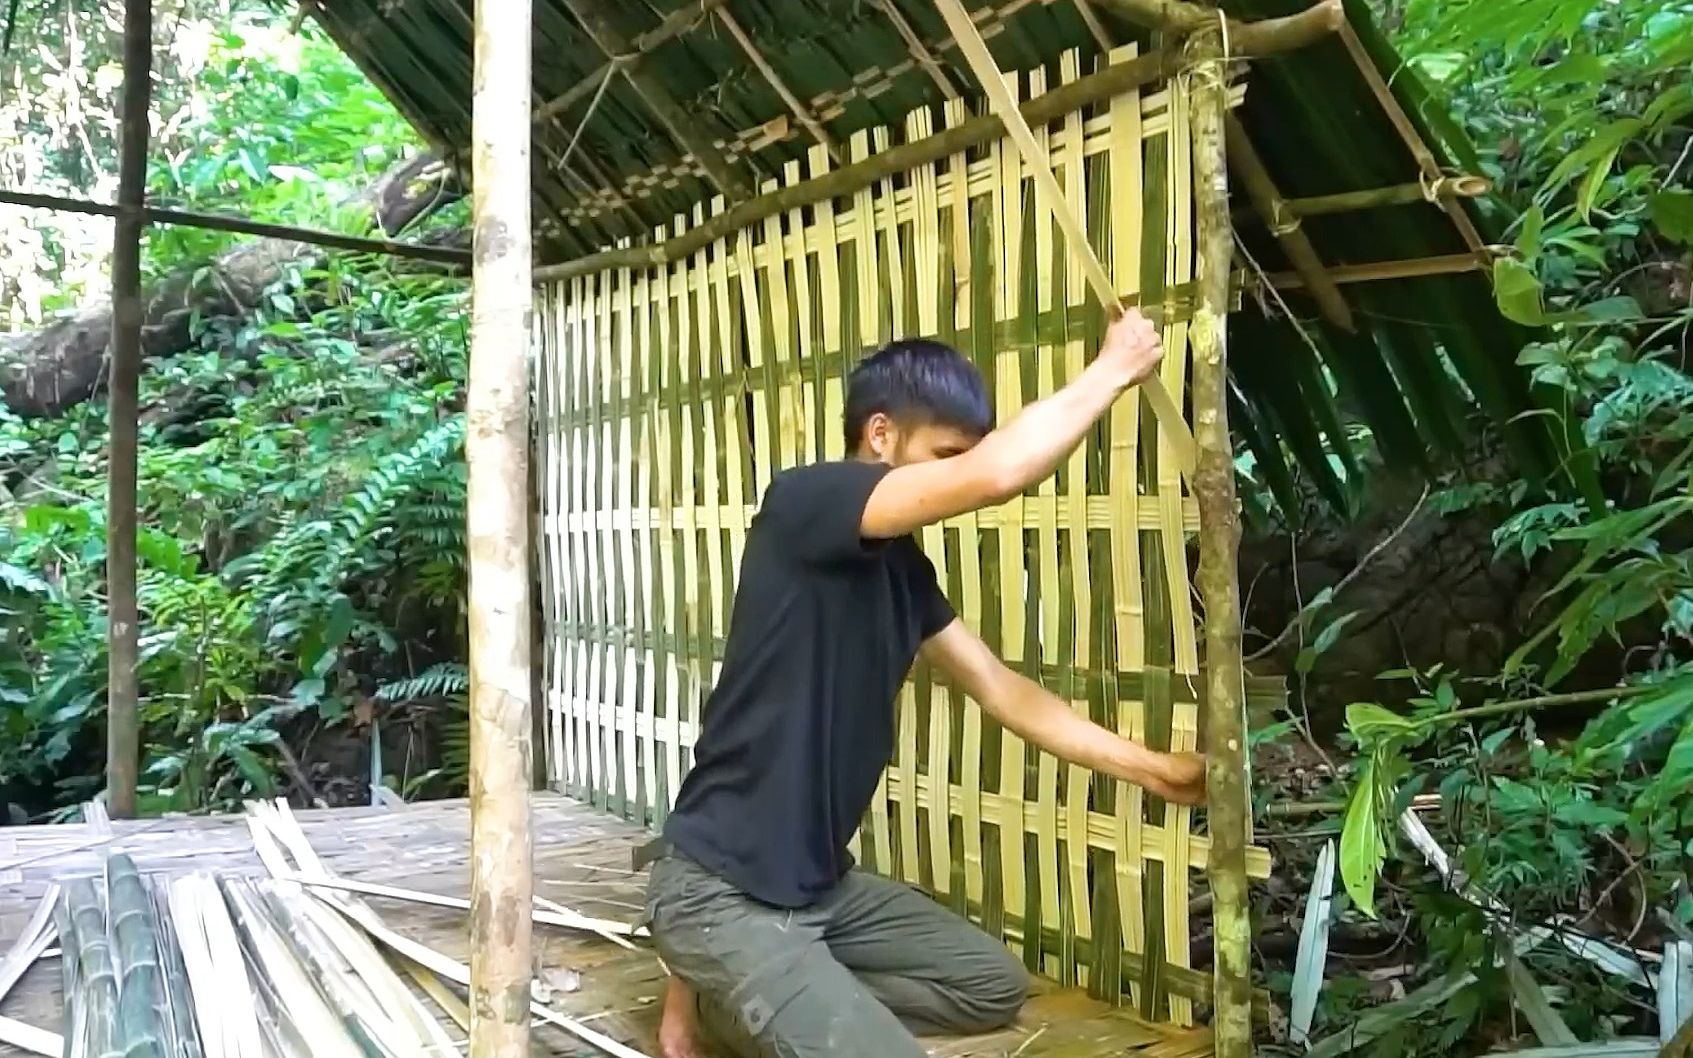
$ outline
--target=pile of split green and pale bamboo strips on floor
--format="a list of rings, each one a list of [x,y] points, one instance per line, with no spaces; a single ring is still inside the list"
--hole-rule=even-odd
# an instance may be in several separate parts
[[[42,897],[0,960],[0,997],[59,941],[63,1036],[0,1017],[47,1058],[440,1058],[464,1050],[469,968],[401,936],[361,897],[462,901],[334,875],[286,804],[251,804],[267,877],[142,875],[129,855]],[[631,946],[638,929],[537,901],[535,921]],[[645,1058],[550,1006],[532,1014],[615,1058]],[[450,1033],[457,1026],[459,1033]]]

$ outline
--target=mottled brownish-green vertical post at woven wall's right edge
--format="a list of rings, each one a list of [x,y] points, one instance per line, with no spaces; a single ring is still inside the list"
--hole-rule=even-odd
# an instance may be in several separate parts
[[[1226,66],[1219,27],[1188,39],[1194,134],[1194,217],[1199,306],[1188,342],[1194,355],[1194,442],[1199,501],[1199,594],[1205,606],[1205,741],[1210,801],[1217,1058],[1253,1050],[1251,929],[1246,904],[1246,681],[1241,662],[1239,506],[1227,410],[1229,171],[1224,159]]]

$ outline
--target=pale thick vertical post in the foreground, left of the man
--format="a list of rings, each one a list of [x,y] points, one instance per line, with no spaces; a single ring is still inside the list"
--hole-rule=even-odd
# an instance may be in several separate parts
[[[471,1058],[530,1022],[528,349],[532,0],[477,0],[471,103]]]

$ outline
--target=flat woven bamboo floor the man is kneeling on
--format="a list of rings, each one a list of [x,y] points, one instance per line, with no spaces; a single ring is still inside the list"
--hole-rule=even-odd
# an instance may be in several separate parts
[[[347,807],[296,813],[325,865],[362,882],[464,897],[469,894],[469,806],[437,801],[401,807]],[[637,826],[560,794],[535,797],[535,892],[596,917],[638,914],[645,875],[630,872]],[[98,824],[0,828],[0,951],[24,929],[51,882],[100,870],[105,855],[127,851],[147,872],[213,870],[262,875],[239,816],[117,821]],[[369,897],[389,928],[445,955],[467,960],[459,911]],[[554,1006],[591,1028],[657,1056],[659,995],[664,975],[650,950],[630,951],[603,938],[554,926],[535,928],[543,980],[560,987],[574,972],[574,992],[555,990]],[[39,960],[0,1000],[0,1014],[58,1029],[58,960]],[[457,1038],[457,1036],[455,1036]],[[929,1039],[936,1058],[1205,1058],[1210,1033],[1146,1024],[1080,992],[1036,987],[1017,1022],[990,1036]],[[535,1053],[596,1055],[560,1029],[538,1026]],[[0,1044],[0,1058],[22,1051]]]

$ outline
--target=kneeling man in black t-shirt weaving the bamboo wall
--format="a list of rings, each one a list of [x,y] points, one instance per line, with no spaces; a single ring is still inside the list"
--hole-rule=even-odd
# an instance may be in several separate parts
[[[1182,804],[1204,797],[1200,757],[1121,738],[1001,664],[913,540],[1051,474],[1161,357],[1131,311],[1080,377],[994,430],[968,361],[894,342],[848,381],[852,459],[770,482],[694,769],[655,843],[647,912],[672,973],[665,1058],[704,1053],[696,1016],[716,1048],[747,1058],[918,1058],[913,1033],[1016,1017],[1028,977],[999,941],[855,870],[846,851],[892,758],[894,701],[919,653],[1056,757]]]

